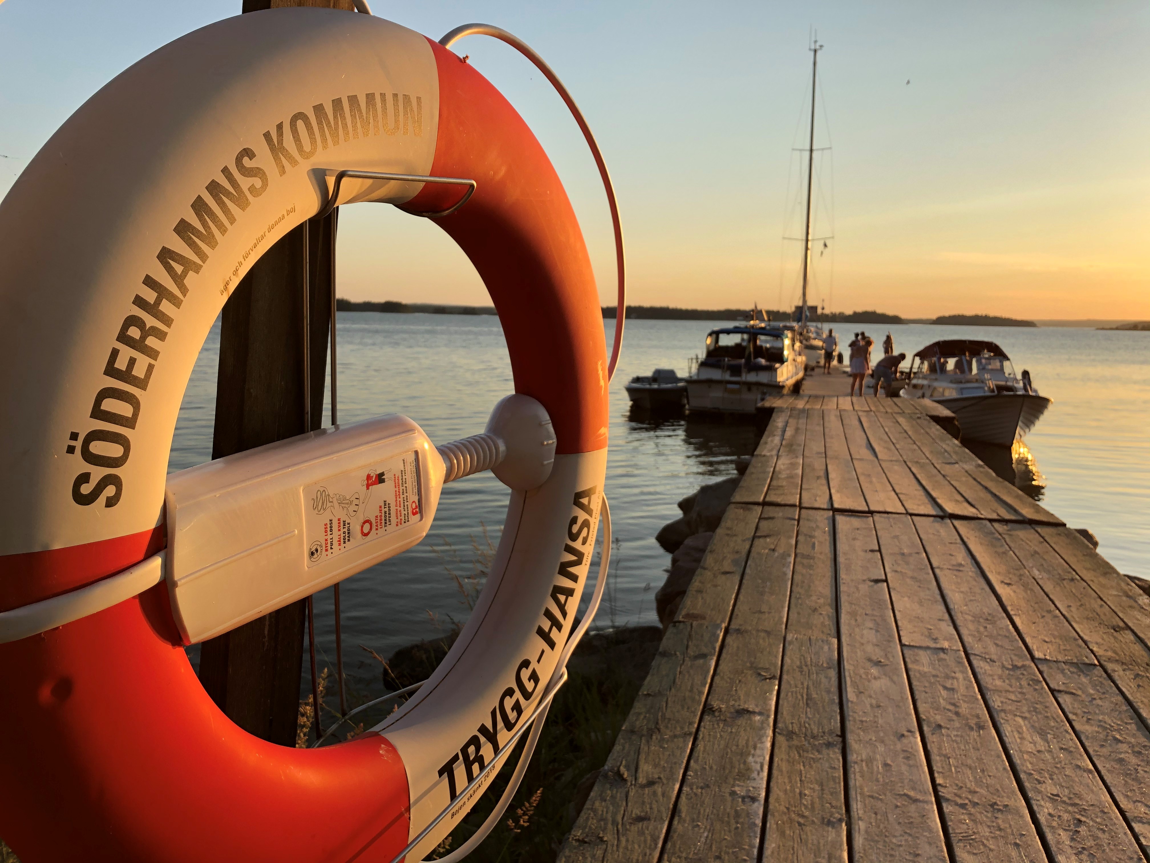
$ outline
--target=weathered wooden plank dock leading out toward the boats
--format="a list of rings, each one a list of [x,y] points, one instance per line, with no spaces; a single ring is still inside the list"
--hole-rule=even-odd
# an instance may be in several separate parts
[[[1150,598],[914,405],[773,405],[561,863],[1147,860]]]

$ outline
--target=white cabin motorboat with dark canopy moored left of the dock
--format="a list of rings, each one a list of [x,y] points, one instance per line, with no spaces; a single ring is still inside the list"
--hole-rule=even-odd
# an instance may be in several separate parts
[[[687,379],[687,406],[691,413],[753,414],[767,396],[793,392],[805,373],[802,350],[788,330],[759,321],[713,329]]]

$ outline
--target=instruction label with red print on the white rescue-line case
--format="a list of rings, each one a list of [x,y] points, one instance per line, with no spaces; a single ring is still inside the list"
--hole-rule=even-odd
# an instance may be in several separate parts
[[[422,504],[415,450],[305,487],[307,565],[420,521]]]

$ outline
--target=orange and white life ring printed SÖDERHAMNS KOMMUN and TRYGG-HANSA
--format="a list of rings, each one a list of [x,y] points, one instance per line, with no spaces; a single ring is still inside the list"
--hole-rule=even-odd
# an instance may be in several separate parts
[[[228,720],[185,657],[170,583],[0,644],[0,835],[26,863],[386,862],[454,804],[421,858],[557,666],[607,446],[583,237],[488,81],[419,33],[323,9],[229,18],[145,58],[0,205],[0,612],[147,575],[208,329],[262,251],[332,203],[340,169],[476,181],[438,223],[491,293],[516,391],[553,423],[550,478],[512,494],[488,586],[435,675],[351,742],[288,749]],[[347,177],[334,203],[429,214],[462,193]]]

